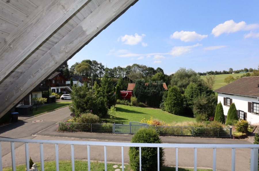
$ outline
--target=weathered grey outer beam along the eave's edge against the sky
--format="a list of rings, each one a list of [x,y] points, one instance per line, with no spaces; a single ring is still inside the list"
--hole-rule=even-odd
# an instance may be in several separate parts
[[[0,117],[138,0],[105,1],[1,94]],[[91,22],[89,22],[91,21]]]

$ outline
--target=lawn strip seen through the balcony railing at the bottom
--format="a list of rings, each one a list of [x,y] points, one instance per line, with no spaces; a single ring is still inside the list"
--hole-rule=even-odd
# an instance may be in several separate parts
[[[39,171],[41,171],[41,165],[39,162],[36,162],[37,164],[37,168]],[[111,163],[107,163],[107,170],[108,171],[114,171],[115,168],[113,168],[115,164],[111,164]],[[121,166],[121,164],[116,164],[119,168],[119,166]],[[130,171],[130,167],[128,164],[124,164],[125,166],[125,171]],[[25,164],[16,166],[16,170],[17,171],[24,171],[26,168]],[[45,171],[53,171],[56,170],[56,162],[55,161],[49,161],[49,162],[44,162],[44,170]],[[62,171],[70,171],[72,170],[72,164],[71,164],[71,160],[60,160],[59,161],[59,170]],[[87,161],[82,161],[82,160],[75,160],[75,170],[88,170],[88,164]],[[98,162],[98,161],[94,161],[91,162],[91,170],[93,171],[99,171],[99,170],[104,170],[104,163]],[[175,168],[171,168],[171,167],[163,167],[161,169],[162,171],[175,171]],[[178,168],[179,171],[193,171],[193,169],[184,169],[184,168]],[[197,169],[198,171],[211,171],[211,170],[201,170],[201,169]],[[12,167],[8,167],[8,168],[3,168],[3,171],[12,171]]]

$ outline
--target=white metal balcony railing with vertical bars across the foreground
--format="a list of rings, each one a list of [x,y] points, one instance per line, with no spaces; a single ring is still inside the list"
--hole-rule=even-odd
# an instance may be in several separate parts
[[[123,147],[139,147],[140,156],[142,147],[156,147],[157,148],[157,164],[159,170],[159,147],[163,148],[175,148],[176,153],[176,170],[178,170],[178,148],[193,148],[194,149],[194,170],[197,170],[197,149],[199,148],[210,148],[213,149],[213,170],[216,171],[216,150],[217,148],[232,149],[232,163],[231,170],[235,170],[235,150],[236,149],[250,149],[250,171],[258,170],[258,149],[259,145],[257,144],[151,144],[151,143],[119,143],[119,142],[94,142],[94,141],[55,141],[55,140],[34,140],[34,139],[9,139],[9,138],[0,138],[0,156],[2,156],[1,142],[10,142],[11,143],[11,158],[12,158],[12,170],[16,170],[15,162],[15,144],[14,143],[24,143],[25,145],[25,159],[26,159],[26,170],[29,170],[29,143],[37,143],[40,147],[40,161],[41,161],[41,170],[44,171],[44,157],[43,157],[43,144],[55,144],[55,156],[56,156],[56,170],[59,171],[59,158],[58,158],[58,145],[65,144],[71,145],[71,163],[72,170],[75,170],[75,157],[74,157],[74,145],[86,145],[87,146],[87,161],[88,161],[88,170],[90,171],[90,146],[103,146],[104,147],[104,166],[107,170],[107,158],[106,158],[106,147],[107,146],[117,146],[121,147],[121,162],[122,170],[124,170],[124,155]],[[0,160],[0,171],[3,170],[2,157]],[[140,159],[140,170],[141,170],[141,159]]]

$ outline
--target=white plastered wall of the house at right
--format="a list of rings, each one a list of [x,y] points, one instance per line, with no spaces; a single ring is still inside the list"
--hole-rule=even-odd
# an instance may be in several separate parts
[[[248,102],[259,103],[257,98],[218,93],[218,103],[221,102],[225,116],[227,116],[228,114],[229,106],[224,105],[224,97],[231,98],[232,103],[235,103],[237,110],[241,110],[247,113],[246,117],[248,122],[250,122],[251,124],[259,123],[259,115],[248,112]]]

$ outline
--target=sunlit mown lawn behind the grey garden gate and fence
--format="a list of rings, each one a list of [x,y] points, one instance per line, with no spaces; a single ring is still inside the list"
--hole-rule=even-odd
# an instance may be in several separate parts
[[[145,120],[150,119],[153,117],[160,122],[166,123],[180,123],[185,121],[195,121],[194,118],[185,117],[185,116],[178,116],[168,112],[165,112],[161,109],[155,108],[142,108],[136,106],[126,106],[121,104],[116,104],[116,123],[129,124],[129,122],[140,122],[142,119]]]

